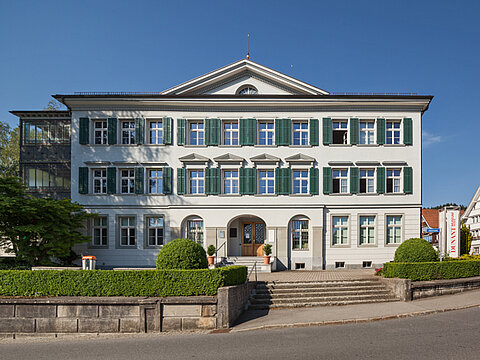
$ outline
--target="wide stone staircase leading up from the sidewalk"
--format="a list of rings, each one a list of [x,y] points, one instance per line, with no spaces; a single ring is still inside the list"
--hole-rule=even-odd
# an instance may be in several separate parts
[[[396,301],[378,279],[318,282],[259,282],[249,309],[266,310]]]

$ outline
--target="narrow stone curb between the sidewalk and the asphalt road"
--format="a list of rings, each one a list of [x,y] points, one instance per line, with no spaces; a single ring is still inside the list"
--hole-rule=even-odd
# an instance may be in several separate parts
[[[402,318],[409,318],[409,317],[416,317],[416,316],[423,316],[423,315],[439,314],[439,313],[443,313],[443,312],[455,311],[455,310],[465,310],[465,309],[470,309],[470,308],[474,308],[474,307],[480,307],[480,304],[457,306],[457,307],[444,308],[444,309],[438,309],[438,310],[422,310],[422,311],[414,311],[414,312],[397,314],[397,315],[385,315],[385,316],[360,318],[360,319],[326,320],[326,321],[316,321],[316,322],[308,322],[308,323],[294,323],[294,324],[272,324],[272,325],[255,326],[255,327],[251,327],[251,328],[247,328],[247,329],[231,328],[230,332],[233,333],[233,332],[245,332],[245,331],[255,331],[255,330],[272,330],[272,329],[310,327],[310,326],[360,324],[360,323],[367,323],[367,322],[374,322],[374,321],[402,319]]]

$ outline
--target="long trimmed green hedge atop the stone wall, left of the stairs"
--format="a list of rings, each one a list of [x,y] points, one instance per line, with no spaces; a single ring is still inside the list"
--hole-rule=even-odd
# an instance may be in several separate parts
[[[3,270],[0,296],[196,296],[245,282],[245,266],[213,270]]]

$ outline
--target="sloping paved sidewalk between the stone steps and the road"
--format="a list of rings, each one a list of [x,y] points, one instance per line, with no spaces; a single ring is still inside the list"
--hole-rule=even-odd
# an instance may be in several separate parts
[[[410,302],[395,301],[297,309],[247,310],[238,319],[237,325],[232,328],[231,332],[378,321],[460,310],[475,306],[480,307],[480,290]]]

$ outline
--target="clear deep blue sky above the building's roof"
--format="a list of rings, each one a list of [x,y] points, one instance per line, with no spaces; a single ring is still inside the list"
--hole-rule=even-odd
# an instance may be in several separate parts
[[[480,184],[479,1],[0,0],[0,120],[55,93],[160,91],[243,58],[331,92],[434,95],[423,203]],[[293,65],[293,68],[292,68]]]

